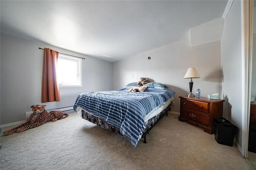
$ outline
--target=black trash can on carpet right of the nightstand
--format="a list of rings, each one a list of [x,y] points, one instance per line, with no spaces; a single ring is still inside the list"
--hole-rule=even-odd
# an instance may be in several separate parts
[[[220,123],[218,120],[214,119],[216,124],[215,140],[220,144],[225,144],[230,147],[233,147],[234,136],[236,135],[238,127],[231,124],[228,120],[222,119]]]

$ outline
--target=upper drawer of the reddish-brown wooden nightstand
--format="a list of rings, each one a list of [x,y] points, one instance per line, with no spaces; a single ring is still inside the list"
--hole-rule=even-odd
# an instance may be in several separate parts
[[[181,106],[188,109],[209,113],[209,104],[205,102],[181,99]]]

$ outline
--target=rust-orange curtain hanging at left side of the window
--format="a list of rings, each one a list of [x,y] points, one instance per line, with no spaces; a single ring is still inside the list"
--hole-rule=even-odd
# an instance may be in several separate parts
[[[58,52],[45,48],[44,66],[42,68],[41,102],[59,102],[59,86],[57,83]]]

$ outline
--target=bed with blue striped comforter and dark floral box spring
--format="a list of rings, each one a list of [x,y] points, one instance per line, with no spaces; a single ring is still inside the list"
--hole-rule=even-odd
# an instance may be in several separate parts
[[[147,87],[144,92],[120,90],[87,92],[77,96],[74,110],[90,122],[123,135],[135,148],[138,141],[167,115],[175,92]]]

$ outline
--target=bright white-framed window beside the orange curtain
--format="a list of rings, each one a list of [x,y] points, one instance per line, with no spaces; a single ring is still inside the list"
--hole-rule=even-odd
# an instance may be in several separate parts
[[[59,54],[57,80],[59,87],[81,87],[81,60]]]

